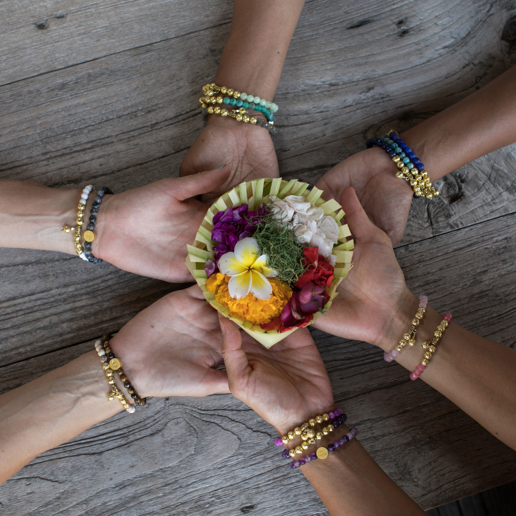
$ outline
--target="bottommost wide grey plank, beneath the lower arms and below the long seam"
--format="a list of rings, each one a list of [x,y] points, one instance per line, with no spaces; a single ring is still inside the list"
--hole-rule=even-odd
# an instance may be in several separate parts
[[[516,215],[505,216],[396,254],[411,288],[427,293],[432,307],[450,308],[468,329],[514,347],[515,228]],[[488,262],[480,281],[464,267]],[[516,451],[424,382],[411,382],[404,368],[386,364],[380,350],[317,330],[312,335],[335,400],[359,428],[361,443],[424,508],[516,479]],[[28,381],[89,346],[4,366],[0,385]],[[36,458],[0,487],[0,503],[13,516],[236,515],[242,509],[326,515],[308,482],[286,470],[274,437],[229,395],[152,399],[134,418],[117,415]]]

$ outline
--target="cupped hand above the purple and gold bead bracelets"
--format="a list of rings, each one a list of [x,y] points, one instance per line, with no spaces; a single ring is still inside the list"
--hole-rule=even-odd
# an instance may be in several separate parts
[[[254,340],[243,344],[240,331],[221,316],[220,327],[231,393],[280,435],[333,410],[330,379],[307,329],[298,329],[267,349]]]

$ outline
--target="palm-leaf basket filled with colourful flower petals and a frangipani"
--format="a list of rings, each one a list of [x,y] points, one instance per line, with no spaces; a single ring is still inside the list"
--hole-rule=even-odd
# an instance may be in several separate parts
[[[240,184],[211,206],[188,246],[206,300],[266,347],[324,314],[351,267],[341,206],[308,186]]]

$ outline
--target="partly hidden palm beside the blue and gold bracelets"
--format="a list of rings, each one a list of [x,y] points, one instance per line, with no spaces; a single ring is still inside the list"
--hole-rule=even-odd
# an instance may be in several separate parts
[[[315,185],[323,197],[338,201],[344,188],[352,186],[369,218],[396,245],[405,232],[413,191],[394,175],[396,167],[382,149],[358,152],[335,165]]]

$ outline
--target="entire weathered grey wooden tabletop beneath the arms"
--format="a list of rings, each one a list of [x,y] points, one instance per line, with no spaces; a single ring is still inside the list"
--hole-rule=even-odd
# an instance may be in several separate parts
[[[2,8],[0,178],[121,191],[177,173],[202,127],[196,99],[215,74],[229,2]],[[404,130],[489,82],[516,60],[501,40],[514,14],[514,2],[483,0],[307,2],[275,97],[282,174],[313,184],[387,125]],[[450,174],[442,197],[413,203],[396,250],[415,293],[513,347],[515,175],[515,146]],[[0,250],[0,392],[178,287]],[[516,479],[516,452],[381,351],[313,336],[360,441],[423,507]],[[231,396],[154,399],[35,459],[0,487],[0,514],[327,514],[272,437]]]

